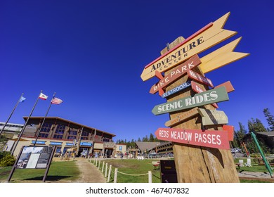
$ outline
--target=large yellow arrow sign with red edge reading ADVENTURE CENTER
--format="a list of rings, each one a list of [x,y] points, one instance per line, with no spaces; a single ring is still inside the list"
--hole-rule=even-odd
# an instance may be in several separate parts
[[[174,47],[174,49],[171,49],[155,61],[152,61],[152,63],[146,65],[141,74],[142,80],[146,81],[154,77],[156,70],[164,72],[174,68],[174,66],[187,60],[191,56],[201,53],[211,46],[223,42],[223,40],[237,34],[237,32],[223,29],[229,15],[230,13],[227,13],[214,23],[209,23],[201,30],[185,39],[181,44]]]

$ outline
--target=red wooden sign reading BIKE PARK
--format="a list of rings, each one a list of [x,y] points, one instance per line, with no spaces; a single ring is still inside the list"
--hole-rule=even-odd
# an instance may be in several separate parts
[[[169,75],[163,77],[162,80],[159,80],[157,84],[151,87],[150,94],[155,94],[157,91],[159,91],[159,89],[167,87],[172,82],[178,80],[179,77],[183,76],[187,72],[187,70],[195,68],[200,63],[201,61],[199,56],[195,55],[188,61],[185,61],[181,65],[178,65],[176,68],[171,70]]]

